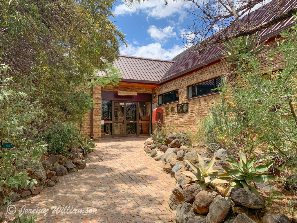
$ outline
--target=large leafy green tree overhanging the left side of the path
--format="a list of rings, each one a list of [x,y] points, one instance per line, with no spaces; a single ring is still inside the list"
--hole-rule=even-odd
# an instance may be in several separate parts
[[[47,116],[37,128],[57,117],[79,122],[93,106],[91,84],[119,82],[111,64],[126,42],[109,20],[113,2],[0,1],[0,63],[10,66],[1,79],[13,77],[13,89],[40,103]],[[107,69],[107,76],[97,77],[97,70]]]

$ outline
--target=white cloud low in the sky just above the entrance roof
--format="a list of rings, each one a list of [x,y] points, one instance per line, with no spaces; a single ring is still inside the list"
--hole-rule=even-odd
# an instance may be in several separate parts
[[[180,54],[184,51],[183,46],[174,45],[171,49],[162,48],[161,43],[151,43],[145,46],[133,46],[129,48],[124,46],[121,47],[121,54],[130,55],[130,56],[140,56],[154,59],[167,59],[171,60],[177,54]]]

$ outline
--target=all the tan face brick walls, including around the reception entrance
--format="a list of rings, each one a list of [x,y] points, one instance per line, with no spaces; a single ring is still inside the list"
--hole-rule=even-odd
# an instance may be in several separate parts
[[[267,44],[268,46],[265,47],[263,52],[266,52],[268,50],[274,49],[277,47],[277,44],[272,41]],[[282,68],[284,65],[282,65],[281,61],[282,57],[279,57],[279,55],[274,56],[273,63],[274,68],[273,70],[278,70]],[[263,68],[263,70],[267,69],[267,66]],[[217,100],[218,100],[218,93],[212,94],[212,95],[206,95],[206,96],[200,96],[198,98],[190,98],[188,99],[188,93],[187,93],[187,86],[196,84],[202,81],[207,81],[212,78],[220,77],[224,75],[227,72],[227,66],[224,62],[220,61],[216,64],[204,67],[201,70],[197,70],[193,73],[190,73],[186,76],[182,76],[180,78],[174,79],[168,83],[162,84],[159,87],[156,87],[154,89],[143,89],[143,88],[134,88],[134,87],[104,87],[101,88],[100,86],[96,86],[94,88],[94,140],[100,140],[100,132],[101,132],[101,90],[104,91],[132,91],[132,92],[139,92],[139,93],[151,93],[153,94],[156,92],[156,98],[153,97],[152,103],[158,104],[158,95],[166,92],[170,92],[173,90],[178,89],[179,94],[179,101],[174,103],[168,103],[165,105],[157,106],[163,109],[163,123],[164,125],[171,125],[174,127],[176,131],[185,131],[185,132],[192,132],[193,134],[196,134],[198,132],[198,123],[199,119],[205,117],[207,115],[208,109],[210,106],[212,106]],[[189,112],[183,113],[183,114],[177,114],[177,104],[179,103],[189,103]],[[168,106],[169,114],[165,114],[165,107]],[[170,108],[174,108],[174,112],[170,112]],[[90,136],[90,117],[91,113],[87,113],[84,117],[83,123],[82,123],[82,129],[81,133],[89,137]],[[155,128],[156,125],[153,124],[153,128]]]

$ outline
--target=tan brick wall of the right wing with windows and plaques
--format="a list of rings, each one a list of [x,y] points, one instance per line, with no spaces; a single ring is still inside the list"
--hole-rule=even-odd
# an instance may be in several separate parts
[[[277,47],[277,44],[274,41],[268,43],[267,45],[268,46],[264,48],[263,53]],[[282,65],[281,58],[282,57],[279,57],[279,55],[274,56],[273,63],[275,65],[273,65],[272,70],[278,70],[284,66]],[[267,66],[265,68],[267,69]],[[265,68],[263,67],[263,70],[265,70]],[[184,130],[185,132],[192,132],[193,134],[198,133],[198,123],[200,122],[200,119],[205,117],[210,106],[217,102],[217,100],[219,99],[219,93],[188,99],[187,87],[192,84],[220,77],[226,74],[227,71],[228,67],[226,63],[220,61],[214,65],[204,67],[201,70],[195,71],[186,76],[177,78],[154,88],[153,92],[156,92],[156,98],[153,97],[153,103],[157,103],[157,107],[162,108],[164,111],[163,125],[171,125],[175,129],[175,131]],[[176,89],[178,89],[178,102],[158,106],[158,95]],[[177,114],[177,104],[186,102],[189,103],[189,112]],[[166,106],[168,106],[168,115],[165,114]],[[174,107],[174,112],[170,112],[171,107]],[[153,129],[156,127],[156,124],[153,124]]]

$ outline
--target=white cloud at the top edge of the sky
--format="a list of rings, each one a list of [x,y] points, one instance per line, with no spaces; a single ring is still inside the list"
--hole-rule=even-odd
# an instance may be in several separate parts
[[[131,7],[120,4],[115,7],[114,14],[132,15],[132,13],[137,13],[140,10],[142,14],[146,13],[148,17],[156,19],[167,18],[175,14],[179,14],[180,18],[184,18],[188,13],[183,8],[190,8],[190,6],[191,3],[187,1],[170,1],[167,6],[162,0],[141,1],[139,4],[134,4]]]

